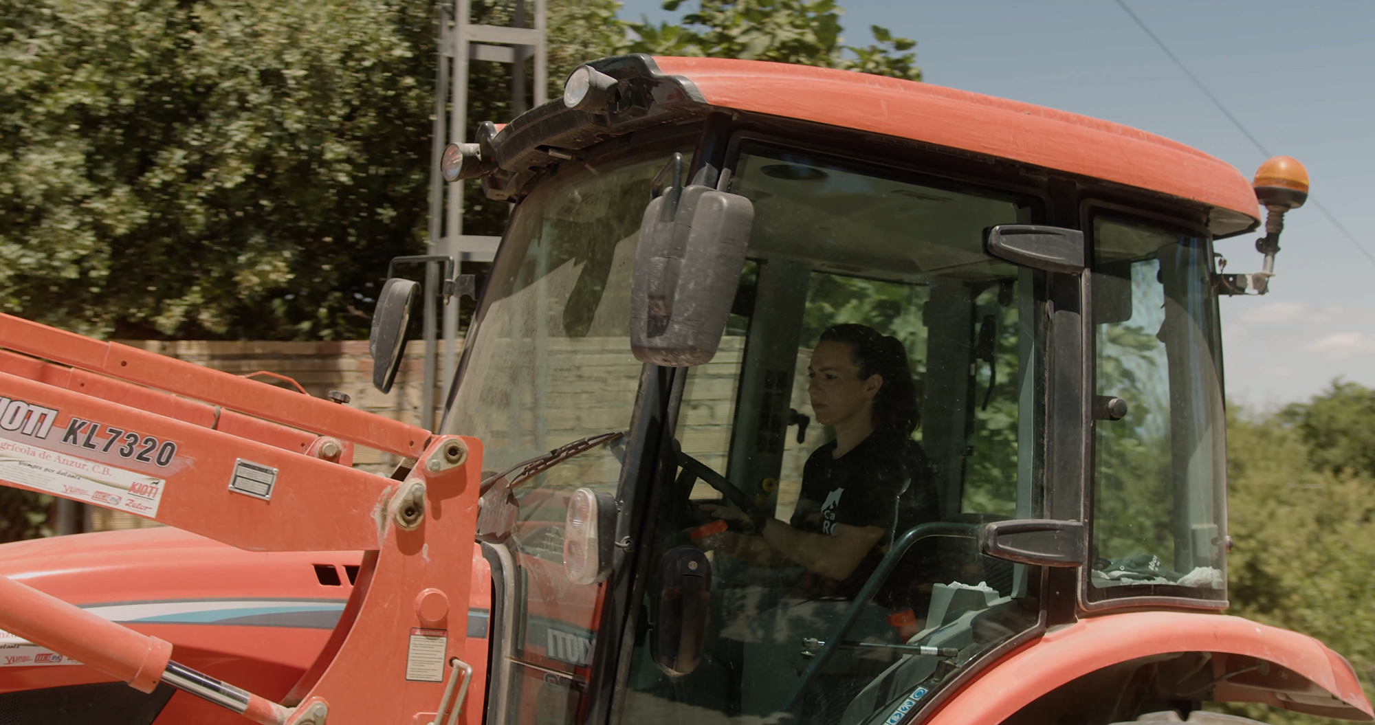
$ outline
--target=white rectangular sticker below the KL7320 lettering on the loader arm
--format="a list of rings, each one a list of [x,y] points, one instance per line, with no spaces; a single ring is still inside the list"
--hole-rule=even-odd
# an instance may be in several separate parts
[[[0,439],[0,479],[154,518],[165,481],[47,448]]]

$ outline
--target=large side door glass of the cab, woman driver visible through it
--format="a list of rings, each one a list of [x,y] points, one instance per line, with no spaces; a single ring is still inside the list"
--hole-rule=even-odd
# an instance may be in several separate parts
[[[1038,511],[1037,281],[982,253],[1031,211],[762,146],[732,191],[755,203],[749,262],[676,435],[740,494],[688,467],[660,492],[650,570],[705,553],[705,636],[666,654],[681,611],[650,577],[626,717],[884,721],[1037,618],[1027,567],[974,540]]]

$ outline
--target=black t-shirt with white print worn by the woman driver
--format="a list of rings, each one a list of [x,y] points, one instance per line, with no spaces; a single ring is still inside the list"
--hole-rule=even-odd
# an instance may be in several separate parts
[[[879,526],[883,537],[844,581],[836,581],[808,573],[804,589],[818,596],[854,597],[865,579],[879,566],[883,553],[892,544],[894,531],[899,525],[899,512],[909,516],[913,512],[908,498],[931,500],[932,511],[920,511],[918,516],[934,520],[934,496],[930,476],[924,475],[927,463],[921,448],[906,435],[890,431],[874,431],[844,456],[833,457],[836,442],[832,441],[811,453],[802,470],[802,492],[793,509],[793,529],[799,531],[833,534],[835,525],[865,527]],[[908,492],[909,485],[923,490]],[[916,494],[916,496],[912,496]]]

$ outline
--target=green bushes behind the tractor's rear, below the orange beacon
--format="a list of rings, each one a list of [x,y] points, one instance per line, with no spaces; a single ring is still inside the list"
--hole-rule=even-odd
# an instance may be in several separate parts
[[[1375,693],[1375,479],[1350,460],[1313,465],[1309,434],[1290,420],[1304,408],[1368,405],[1370,394],[1339,383],[1280,415],[1228,420],[1229,614],[1317,637],[1350,660],[1367,695]],[[1229,711],[1276,725],[1338,722],[1261,706]]]

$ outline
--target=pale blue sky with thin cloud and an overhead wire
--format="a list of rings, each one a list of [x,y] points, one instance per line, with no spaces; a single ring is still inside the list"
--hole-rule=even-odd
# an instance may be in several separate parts
[[[682,15],[623,3],[627,19]],[[1114,0],[840,4],[847,44],[869,44],[870,25],[913,38],[927,82],[1126,124],[1247,179],[1265,161]],[[1128,4],[1272,154],[1304,162],[1309,199],[1375,255],[1375,3]],[[1229,272],[1260,271],[1255,236],[1217,243]],[[1375,261],[1312,200],[1288,213],[1280,246],[1269,294],[1221,301],[1228,397],[1265,411],[1336,378],[1375,387]]]

